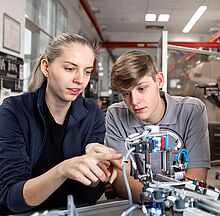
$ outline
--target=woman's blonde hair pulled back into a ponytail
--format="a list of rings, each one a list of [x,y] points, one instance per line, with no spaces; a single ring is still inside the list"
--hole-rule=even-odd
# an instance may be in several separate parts
[[[49,63],[52,63],[56,58],[61,55],[63,48],[71,43],[86,45],[90,47],[91,50],[93,50],[94,56],[97,56],[97,51],[99,48],[98,43],[96,42],[92,45],[87,39],[80,35],[74,33],[63,33],[60,36],[53,38],[48,44],[44,53],[37,59],[34,65],[28,87],[29,92],[36,91],[46,79],[40,69],[41,60],[47,59]]]

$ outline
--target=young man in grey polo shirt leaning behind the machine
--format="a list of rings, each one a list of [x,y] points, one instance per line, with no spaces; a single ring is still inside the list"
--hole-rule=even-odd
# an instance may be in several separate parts
[[[208,119],[205,105],[197,98],[170,96],[161,91],[164,77],[158,72],[149,54],[132,50],[115,62],[112,89],[122,94],[123,101],[111,105],[106,113],[106,143],[126,155],[125,139],[133,133],[142,133],[146,125],[159,125],[176,131],[189,152],[186,179],[206,180],[210,166]],[[158,158],[152,156],[152,167],[158,171]],[[134,200],[139,200],[142,184],[127,175]],[[123,176],[115,181],[117,194],[127,196]]]

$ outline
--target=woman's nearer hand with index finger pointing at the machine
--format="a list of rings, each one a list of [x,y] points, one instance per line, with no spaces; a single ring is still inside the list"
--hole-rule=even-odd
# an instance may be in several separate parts
[[[98,181],[106,182],[111,176],[106,161],[121,158],[122,155],[116,152],[93,152],[63,161],[60,164],[60,172],[65,178],[79,181],[85,185],[91,185]]]

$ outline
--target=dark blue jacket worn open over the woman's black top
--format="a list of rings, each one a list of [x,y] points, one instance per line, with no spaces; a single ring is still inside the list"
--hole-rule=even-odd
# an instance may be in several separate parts
[[[44,95],[45,84],[34,93],[9,97],[0,106],[0,206],[15,213],[33,208],[24,201],[23,186],[45,145]],[[104,117],[95,101],[79,96],[70,109],[65,158],[84,154],[88,143],[103,143],[105,134]],[[104,187],[99,189],[88,187],[93,194],[86,196],[96,201]]]

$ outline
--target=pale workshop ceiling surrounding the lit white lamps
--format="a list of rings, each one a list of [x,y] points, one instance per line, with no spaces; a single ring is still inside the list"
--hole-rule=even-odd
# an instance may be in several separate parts
[[[88,0],[105,41],[160,40],[161,29],[146,29],[146,25],[162,26],[169,41],[208,41],[220,31],[220,0]],[[188,34],[182,29],[200,5],[207,10]],[[145,13],[168,13],[170,20],[144,21]]]

